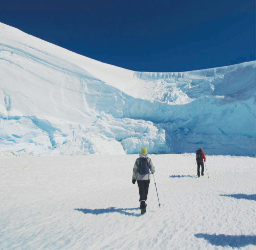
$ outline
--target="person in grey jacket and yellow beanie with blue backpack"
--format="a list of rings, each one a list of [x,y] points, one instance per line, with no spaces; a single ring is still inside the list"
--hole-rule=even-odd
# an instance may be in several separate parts
[[[137,184],[139,187],[140,194],[140,209],[142,213],[146,212],[146,200],[148,195],[148,187],[150,183],[150,171],[153,174],[155,172],[154,165],[152,160],[147,157],[147,148],[142,148],[140,157],[136,159],[134,167],[133,167],[133,175],[132,175],[132,183],[135,184],[137,180]],[[144,167],[142,166],[144,165]],[[149,171],[150,170],[150,171]],[[144,172],[143,172],[144,171]],[[145,173],[145,171],[147,173]]]

